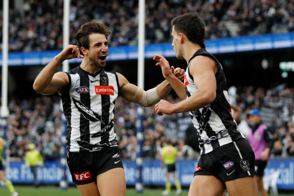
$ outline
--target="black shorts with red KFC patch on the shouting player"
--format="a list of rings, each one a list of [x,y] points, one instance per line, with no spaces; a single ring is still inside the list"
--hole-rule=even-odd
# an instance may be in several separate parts
[[[124,168],[118,147],[92,152],[68,152],[68,166],[75,184],[96,182],[99,174],[113,168]]]

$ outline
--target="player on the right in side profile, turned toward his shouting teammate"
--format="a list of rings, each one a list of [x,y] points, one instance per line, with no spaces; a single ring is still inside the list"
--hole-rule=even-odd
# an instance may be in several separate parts
[[[205,27],[193,13],[171,21],[172,47],[188,67],[184,84],[170,72],[168,61],[155,55],[163,76],[182,99],[171,104],[161,100],[157,114],[190,112],[197,128],[201,157],[190,185],[189,196],[258,195],[254,174],[254,153],[230,114],[225,76],[219,61],[205,50]]]

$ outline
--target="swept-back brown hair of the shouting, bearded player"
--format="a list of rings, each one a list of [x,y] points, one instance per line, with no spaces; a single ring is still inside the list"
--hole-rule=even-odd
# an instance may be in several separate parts
[[[81,54],[83,54],[81,51],[81,47],[89,49],[89,35],[91,35],[92,33],[104,34],[107,39],[107,36],[111,34],[111,31],[108,27],[101,23],[88,22],[83,24],[76,34],[77,46],[80,48]]]

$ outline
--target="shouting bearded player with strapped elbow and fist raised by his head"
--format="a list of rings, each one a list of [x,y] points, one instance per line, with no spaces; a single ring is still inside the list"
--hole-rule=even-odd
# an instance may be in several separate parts
[[[77,45],[67,46],[40,72],[33,88],[41,94],[58,92],[68,121],[68,165],[82,196],[126,195],[126,180],[120,149],[113,128],[114,101],[151,106],[170,91],[168,81],[144,91],[119,73],[107,72],[107,36],[111,31],[97,22],[80,27]],[[56,72],[66,59],[83,58],[68,73]],[[184,70],[171,69],[179,78]]]

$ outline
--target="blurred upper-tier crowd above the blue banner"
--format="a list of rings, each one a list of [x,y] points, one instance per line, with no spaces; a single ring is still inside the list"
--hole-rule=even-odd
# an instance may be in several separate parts
[[[9,13],[10,51],[63,48],[63,1],[24,0],[23,5],[14,7],[18,9],[10,9]],[[294,30],[292,0],[146,0],[146,43],[171,42],[170,21],[187,12],[196,13],[203,19],[206,39]],[[110,46],[137,45],[138,1],[72,0],[71,44],[76,44],[78,28],[89,21],[109,27],[112,31]],[[2,24],[0,20],[1,29]]]

